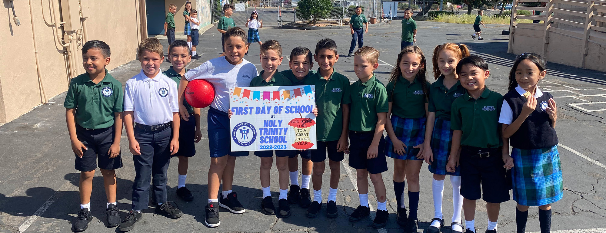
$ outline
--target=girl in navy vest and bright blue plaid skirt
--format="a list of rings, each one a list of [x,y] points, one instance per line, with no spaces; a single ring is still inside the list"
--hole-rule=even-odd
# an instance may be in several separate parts
[[[558,153],[556,102],[539,90],[547,63],[534,53],[516,58],[509,74],[499,123],[513,150],[513,200],[518,232],[525,232],[528,206],[539,206],[541,232],[551,231],[551,203],[562,199],[562,168]]]

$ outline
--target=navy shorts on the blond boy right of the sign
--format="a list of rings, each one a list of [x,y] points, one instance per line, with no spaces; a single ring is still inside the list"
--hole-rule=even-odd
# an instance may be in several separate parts
[[[355,169],[367,169],[370,174],[379,174],[387,171],[387,160],[385,160],[385,138],[381,135],[379,140],[379,152],[374,159],[367,159],[368,147],[373,142],[375,132],[356,133],[349,132],[349,166]]]

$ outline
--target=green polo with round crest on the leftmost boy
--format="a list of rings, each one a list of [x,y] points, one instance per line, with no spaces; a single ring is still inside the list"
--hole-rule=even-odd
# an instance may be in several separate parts
[[[72,79],[63,106],[76,109],[76,124],[102,129],[114,124],[114,113],[124,111],[122,84],[105,69],[105,77],[95,84],[88,73]]]

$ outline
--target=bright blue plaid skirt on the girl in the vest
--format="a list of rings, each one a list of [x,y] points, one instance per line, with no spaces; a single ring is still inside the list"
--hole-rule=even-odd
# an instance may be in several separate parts
[[[511,151],[513,200],[520,205],[542,206],[558,202],[564,195],[558,146]]]

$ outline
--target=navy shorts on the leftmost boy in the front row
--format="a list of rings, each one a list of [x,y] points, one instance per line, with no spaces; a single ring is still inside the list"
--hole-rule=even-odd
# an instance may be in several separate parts
[[[87,130],[76,125],[78,140],[88,149],[82,149],[82,157],[76,156],[74,168],[78,171],[95,171],[97,166],[105,170],[122,168],[122,156],[110,159],[107,151],[113,143],[114,126],[99,130]],[[99,160],[99,162],[97,162]]]

